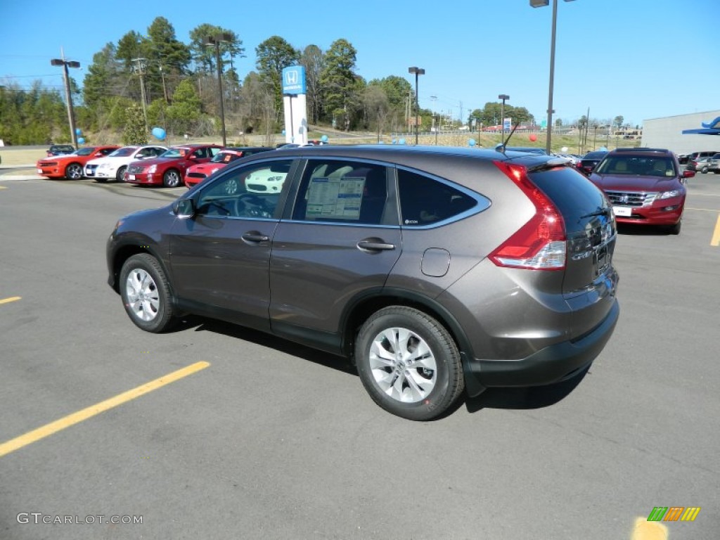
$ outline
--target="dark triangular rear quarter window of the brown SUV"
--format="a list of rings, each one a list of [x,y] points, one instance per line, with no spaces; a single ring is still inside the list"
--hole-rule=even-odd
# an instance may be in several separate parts
[[[477,200],[441,181],[398,169],[402,226],[422,227],[467,212]]]

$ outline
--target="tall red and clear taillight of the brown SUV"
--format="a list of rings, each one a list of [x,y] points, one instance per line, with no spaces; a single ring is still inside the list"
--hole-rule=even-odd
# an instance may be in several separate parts
[[[500,171],[522,190],[534,204],[530,220],[490,253],[498,266],[534,270],[562,270],[567,251],[565,224],[553,202],[527,175],[523,166],[495,161]]]

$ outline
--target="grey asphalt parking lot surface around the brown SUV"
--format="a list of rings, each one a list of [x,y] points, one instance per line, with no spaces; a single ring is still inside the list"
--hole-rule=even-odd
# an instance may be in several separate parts
[[[720,175],[680,235],[621,229],[584,377],[430,423],[330,355],[132,325],[105,241],[184,188],[1,180],[0,539],[630,539],[658,506],[701,508],[664,538],[718,538]]]

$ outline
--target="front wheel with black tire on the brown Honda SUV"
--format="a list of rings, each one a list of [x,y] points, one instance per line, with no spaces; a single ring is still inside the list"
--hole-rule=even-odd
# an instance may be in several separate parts
[[[122,265],[120,297],[130,320],[146,332],[161,333],[175,322],[165,272],[148,253],[133,255]]]

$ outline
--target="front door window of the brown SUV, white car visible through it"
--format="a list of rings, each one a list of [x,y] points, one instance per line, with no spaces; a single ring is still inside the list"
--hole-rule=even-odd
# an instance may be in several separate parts
[[[290,160],[266,161],[220,176],[200,192],[199,215],[274,217]]]

